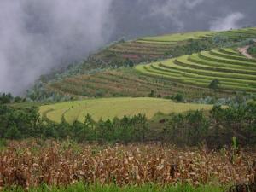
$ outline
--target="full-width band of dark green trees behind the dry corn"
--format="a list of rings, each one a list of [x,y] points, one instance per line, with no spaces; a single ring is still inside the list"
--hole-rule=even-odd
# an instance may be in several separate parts
[[[76,114],[76,113],[74,113]],[[214,106],[207,113],[196,110],[186,113],[157,113],[148,120],[144,114],[113,119],[94,120],[84,113],[84,121],[68,124],[65,119],[54,123],[41,118],[36,107],[0,106],[0,138],[21,139],[43,137],[82,143],[133,143],[160,141],[209,148],[221,148],[236,137],[242,146],[256,143],[256,103],[232,107]]]

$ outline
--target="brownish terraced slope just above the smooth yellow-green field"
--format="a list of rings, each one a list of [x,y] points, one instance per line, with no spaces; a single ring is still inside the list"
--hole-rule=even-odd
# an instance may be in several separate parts
[[[111,97],[111,96],[148,96],[154,90],[155,96],[173,96],[182,92],[186,99],[212,96],[212,91],[191,86],[178,84],[172,79],[162,79],[158,76],[148,77],[137,73],[133,68],[108,70],[92,75],[76,75],[61,81],[48,84],[49,92],[79,97]],[[218,92],[226,95],[227,92]]]

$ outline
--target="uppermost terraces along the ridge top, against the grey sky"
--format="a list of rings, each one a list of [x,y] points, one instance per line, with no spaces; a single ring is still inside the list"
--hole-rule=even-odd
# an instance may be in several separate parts
[[[191,39],[205,39],[215,36],[223,36],[235,41],[241,41],[248,38],[256,38],[256,28],[230,30],[227,32],[184,32],[137,38],[123,44],[115,44],[108,50],[113,54],[121,55],[131,60],[139,61],[143,58],[157,59],[166,55],[173,47],[187,44]]]

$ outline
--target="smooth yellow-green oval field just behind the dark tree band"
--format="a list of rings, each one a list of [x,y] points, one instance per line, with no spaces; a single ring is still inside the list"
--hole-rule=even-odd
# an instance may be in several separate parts
[[[44,105],[40,107],[40,113],[55,123],[61,123],[64,118],[72,124],[75,120],[84,122],[87,113],[90,113],[95,120],[122,118],[125,115],[131,116],[137,113],[144,113],[148,119],[151,119],[158,112],[183,113],[189,110],[210,108],[212,108],[211,105],[175,103],[158,98],[105,98]]]

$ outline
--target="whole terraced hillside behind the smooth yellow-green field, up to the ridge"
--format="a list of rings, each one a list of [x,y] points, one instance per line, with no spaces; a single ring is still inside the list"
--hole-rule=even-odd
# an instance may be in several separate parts
[[[175,96],[187,100],[255,92],[256,60],[236,51],[253,44],[256,28],[187,32],[120,40],[63,73],[42,77],[28,92],[33,100],[87,97]],[[149,63],[145,66],[137,64]],[[137,66],[137,67],[134,67]],[[209,88],[218,79],[218,89]]]

